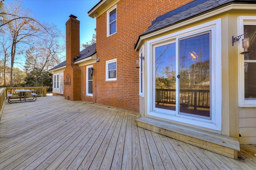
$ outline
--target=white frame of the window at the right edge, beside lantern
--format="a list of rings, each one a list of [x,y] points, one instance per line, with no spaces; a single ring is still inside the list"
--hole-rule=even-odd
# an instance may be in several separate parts
[[[239,16],[238,17],[238,35],[244,34],[244,25],[256,25],[255,16]],[[238,106],[239,107],[256,107],[256,100],[244,99],[244,55],[240,54],[244,51],[242,48],[242,38],[238,45]],[[256,63],[252,60],[250,63]]]

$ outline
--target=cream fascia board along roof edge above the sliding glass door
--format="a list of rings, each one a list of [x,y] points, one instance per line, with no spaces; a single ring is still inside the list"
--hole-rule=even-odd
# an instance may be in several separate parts
[[[145,39],[148,39],[148,38],[153,37],[155,35],[159,35],[161,33],[165,33],[165,32],[170,31],[172,29],[176,29],[176,28],[179,28],[179,27],[182,27],[182,26],[185,26],[185,25],[189,25],[191,23],[194,23],[194,22],[197,22],[197,21],[200,21],[200,20],[211,18],[211,17],[213,17],[215,15],[222,14],[222,13],[227,12],[229,10],[256,10],[256,4],[230,4],[228,6],[224,6],[222,8],[219,8],[217,10],[208,12],[206,14],[202,14],[202,15],[197,16],[195,18],[191,18],[189,20],[186,20],[186,21],[183,21],[183,22],[171,25],[169,27],[160,29],[158,31],[154,31],[152,33],[146,34],[146,35],[140,37],[140,39],[138,41],[138,45],[136,46],[135,51],[140,49],[140,46],[143,44],[143,41]]]

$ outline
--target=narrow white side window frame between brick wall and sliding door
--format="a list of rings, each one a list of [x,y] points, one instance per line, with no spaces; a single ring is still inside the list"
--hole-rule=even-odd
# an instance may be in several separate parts
[[[144,45],[142,45],[142,47],[140,48],[139,51],[139,95],[140,97],[144,98],[144,59],[141,59],[141,56],[144,57],[145,53],[144,53]]]

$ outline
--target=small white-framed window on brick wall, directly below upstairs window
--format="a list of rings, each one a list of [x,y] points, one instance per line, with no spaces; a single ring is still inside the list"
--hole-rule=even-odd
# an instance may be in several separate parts
[[[116,80],[116,59],[106,61],[106,81]]]

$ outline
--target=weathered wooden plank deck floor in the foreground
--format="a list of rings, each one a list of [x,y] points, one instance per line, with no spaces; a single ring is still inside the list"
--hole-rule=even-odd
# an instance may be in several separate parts
[[[137,127],[134,111],[39,97],[9,104],[0,122],[0,169],[256,169],[256,145],[234,160]]]

